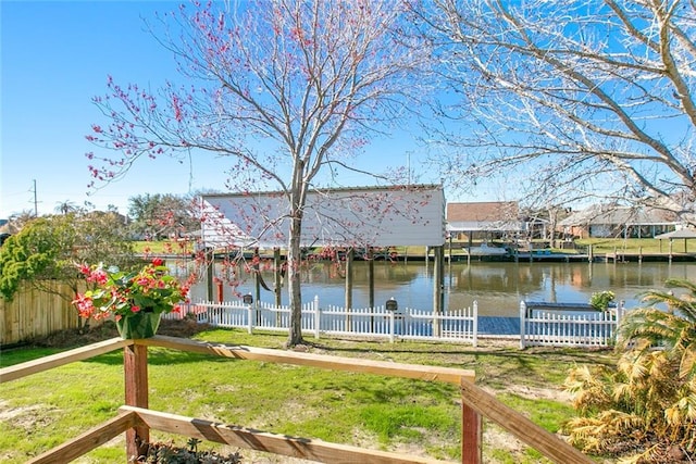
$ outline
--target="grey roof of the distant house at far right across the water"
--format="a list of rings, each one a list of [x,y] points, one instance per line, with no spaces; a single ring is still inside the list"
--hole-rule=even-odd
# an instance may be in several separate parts
[[[676,214],[657,208],[630,208],[596,204],[571,214],[559,222],[560,226],[591,225],[673,225]]]

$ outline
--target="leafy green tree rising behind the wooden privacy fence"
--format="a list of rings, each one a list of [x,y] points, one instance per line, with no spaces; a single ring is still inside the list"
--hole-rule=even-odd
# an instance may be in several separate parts
[[[71,293],[58,294],[72,301],[84,281],[75,264],[99,262],[123,269],[136,264],[123,216],[91,212],[37,217],[0,247],[0,296],[12,300],[23,281],[55,293],[48,284],[61,280]]]

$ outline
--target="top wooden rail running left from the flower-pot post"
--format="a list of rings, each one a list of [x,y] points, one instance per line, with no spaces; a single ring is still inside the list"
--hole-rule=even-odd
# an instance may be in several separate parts
[[[42,371],[52,369],[53,367],[70,364],[75,361],[87,360],[89,358],[98,356],[99,354],[116,351],[130,344],[133,344],[133,340],[124,340],[116,337],[98,343],[88,344],[87,347],[80,347],[62,353],[51,354],[50,356],[39,358],[38,360],[27,361],[26,363],[3,367],[0,369],[0,384],[16,380],[17,378],[26,377],[27,375]]]

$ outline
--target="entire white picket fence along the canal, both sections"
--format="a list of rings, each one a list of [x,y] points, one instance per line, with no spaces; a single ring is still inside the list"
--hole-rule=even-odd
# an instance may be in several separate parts
[[[549,303],[550,304],[550,303]],[[610,347],[624,308],[606,312],[563,309],[540,311],[520,303],[520,347]],[[319,297],[302,305],[302,333],[319,339],[322,335],[350,336],[372,339],[431,340],[478,343],[478,305],[443,314],[406,309],[393,312],[384,305],[350,309],[327,305],[321,308]],[[290,308],[270,303],[245,304],[241,300],[199,302],[183,306],[178,314],[165,318],[177,319],[192,314],[199,323],[219,327],[287,333]],[[512,335],[514,336],[514,335]]]

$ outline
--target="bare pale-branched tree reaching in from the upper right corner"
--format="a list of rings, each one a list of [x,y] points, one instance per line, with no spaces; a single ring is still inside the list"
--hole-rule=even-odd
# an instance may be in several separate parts
[[[696,3],[436,0],[419,13],[452,90],[440,121],[470,123],[439,134],[462,149],[455,181],[512,170],[548,203],[656,202],[693,222]]]

